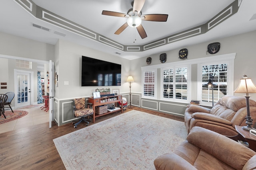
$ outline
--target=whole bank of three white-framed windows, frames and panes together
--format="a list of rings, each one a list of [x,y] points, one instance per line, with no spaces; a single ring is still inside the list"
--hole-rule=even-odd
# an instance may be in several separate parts
[[[222,96],[233,95],[235,56],[236,53],[230,53],[143,66],[142,97],[183,104],[200,100],[200,105],[212,106],[212,88],[208,87],[208,80],[212,76],[214,102]]]

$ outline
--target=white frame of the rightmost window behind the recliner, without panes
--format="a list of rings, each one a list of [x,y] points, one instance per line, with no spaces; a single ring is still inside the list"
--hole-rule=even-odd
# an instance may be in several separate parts
[[[212,102],[202,101],[202,66],[214,65],[214,64],[227,64],[227,94],[233,95],[234,93],[234,59],[236,53],[227,55],[218,55],[214,57],[208,57],[207,61],[202,61],[198,63],[197,66],[197,100],[200,100],[200,105],[212,106]]]

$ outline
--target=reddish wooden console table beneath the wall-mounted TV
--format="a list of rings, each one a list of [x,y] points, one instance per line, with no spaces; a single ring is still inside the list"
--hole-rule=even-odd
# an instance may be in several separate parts
[[[93,108],[93,123],[95,122],[95,118],[96,117],[100,117],[100,116],[104,116],[107,115],[109,113],[113,113],[116,111],[120,111],[123,113],[123,100],[122,100],[122,96],[108,96],[108,97],[102,97],[102,98],[88,98],[88,102],[92,103],[92,108]],[[114,111],[108,111],[107,113],[103,113],[103,114],[96,114],[95,112],[95,107],[96,106],[104,106],[107,104],[112,104],[112,103],[117,103],[120,102],[122,104],[122,107],[118,110],[114,110]]]

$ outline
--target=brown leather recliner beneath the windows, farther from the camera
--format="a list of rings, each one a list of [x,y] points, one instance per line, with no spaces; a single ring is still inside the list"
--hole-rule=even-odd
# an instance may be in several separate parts
[[[241,96],[224,96],[208,109],[189,104],[184,114],[188,133],[194,126],[204,127],[225,136],[238,135],[235,125],[244,126],[247,115],[246,98]],[[250,115],[256,121],[256,102],[250,99]]]

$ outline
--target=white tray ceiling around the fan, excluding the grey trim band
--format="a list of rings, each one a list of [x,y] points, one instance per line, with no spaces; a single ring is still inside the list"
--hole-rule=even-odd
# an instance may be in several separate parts
[[[33,0],[36,5],[48,11],[123,45],[145,45],[160,38],[202,25],[234,2],[234,0],[146,0],[142,8],[142,14],[168,14],[168,20],[166,22],[142,21],[148,37],[141,39],[136,31],[136,41],[133,43],[134,29],[132,27],[127,27],[120,35],[114,34],[126,22],[126,18],[101,14],[102,10],[127,13],[128,9],[132,8],[131,1]],[[117,56],[126,59],[136,59],[172,49],[186,48],[188,45],[211,41],[220,37],[256,30],[256,15],[253,16],[254,14],[256,14],[256,0],[242,0],[236,14],[202,35],[142,52],[124,52],[35,18],[14,0],[1,0],[0,31],[53,45],[58,39],[65,39],[112,55],[117,55],[115,53],[118,52],[121,55]],[[32,23],[50,28],[51,31],[32,27]],[[64,33],[66,36],[56,35],[54,31]]]

